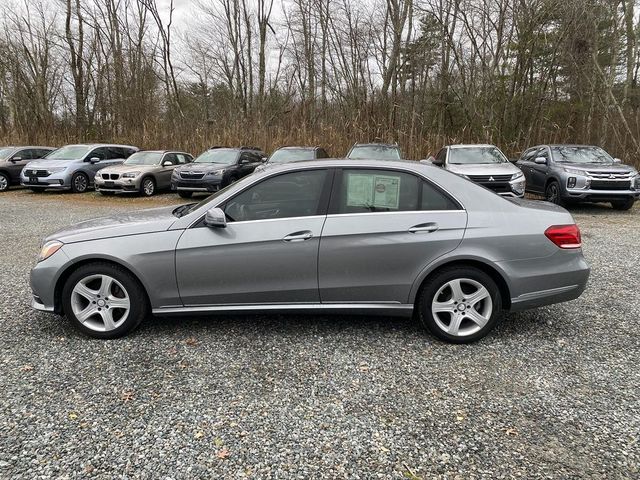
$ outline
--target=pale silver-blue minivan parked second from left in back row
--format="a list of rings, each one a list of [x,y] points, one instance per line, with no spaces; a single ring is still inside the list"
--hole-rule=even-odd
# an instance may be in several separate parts
[[[137,151],[130,145],[66,145],[42,160],[27,163],[20,183],[34,192],[56,189],[83,193],[93,185],[98,170],[120,164]]]

